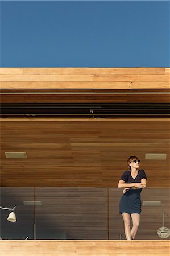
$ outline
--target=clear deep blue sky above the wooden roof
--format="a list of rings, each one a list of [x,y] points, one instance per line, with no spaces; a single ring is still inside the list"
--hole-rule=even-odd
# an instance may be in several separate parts
[[[169,1],[1,1],[1,67],[169,67]]]

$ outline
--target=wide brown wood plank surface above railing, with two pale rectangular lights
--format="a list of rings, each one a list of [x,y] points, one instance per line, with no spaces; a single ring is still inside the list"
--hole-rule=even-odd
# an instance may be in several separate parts
[[[135,154],[147,187],[169,187],[169,119],[43,120],[1,122],[2,186],[117,187]],[[6,159],[6,151],[28,158]],[[167,153],[167,160],[145,160],[146,153]]]

